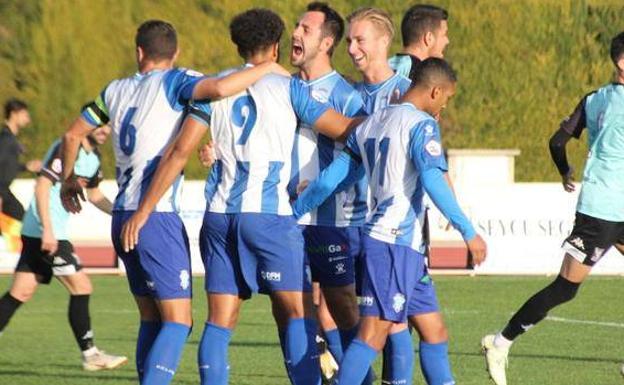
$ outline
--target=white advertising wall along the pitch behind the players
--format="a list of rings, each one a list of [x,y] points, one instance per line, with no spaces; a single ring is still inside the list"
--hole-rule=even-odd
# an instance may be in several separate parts
[[[466,187],[469,185],[470,187]],[[191,242],[193,271],[203,272],[198,235],[205,200],[202,181],[188,181],[184,186],[181,216]],[[111,199],[117,187],[114,181],[102,183]],[[455,185],[458,199],[488,244],[489,257],[477,267],[476,274],[552,274],[561,263],[560,245],[574,223],[577,193],[566,193],[558,183],[462,183]],[[19,180],[13,191],[27,207],[33,181]],[[433,208],[430,214],[432,240],[461,241],[454,230],[446,229],[446,220]],[[74,215],[70,234],[75,244],[81,242],[110,245],[110,217],[86,204],[83,213]],[[0,269],[10,270],[18,255],[2,250]],[[122,264],[120,264],[122,265]],[[624,257],[609,251],[596,266],[597,274],[624,274]]]

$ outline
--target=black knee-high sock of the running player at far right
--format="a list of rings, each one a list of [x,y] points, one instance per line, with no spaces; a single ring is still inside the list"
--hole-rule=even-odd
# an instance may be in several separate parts
[[[513,341],[520,334],[546,318],[550,309],[570,301],[581,284],[570,282],[562,276],[536,293],[518,310],[503,329],[502,335]]]

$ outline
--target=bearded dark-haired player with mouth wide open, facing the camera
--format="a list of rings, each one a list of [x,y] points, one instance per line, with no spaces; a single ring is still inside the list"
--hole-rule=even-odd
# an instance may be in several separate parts
[[[317,98],[346,116],[355,116],[362,113],[362,98],[331,63],[343,33],[344,21],[338,12],[325,3],[308,4],[292,32],[290,62],[299,69],[295,76],[304,80]],[[310,125],[299,124],[289,194],[296,197],[299,183],[316,179],[343,147],[343,143]],[[314,290],[320,286],[320,293],[315,293],[318,319],[328,348],[338,362],[357,332],[354,262],[367,210],[366,189],[362,180],[357,186],[334,194],[298,221],[305,226],[303,237]],[[323,375],[331,378],[337,368],[331,368],[321,358]]]

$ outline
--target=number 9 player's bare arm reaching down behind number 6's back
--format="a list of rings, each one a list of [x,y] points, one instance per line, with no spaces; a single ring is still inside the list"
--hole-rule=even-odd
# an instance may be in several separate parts
[[[184,120],[180,133],[167,147],[152,178],[147,193],[136,212],[121,230],[121,244],[126,252],[139,241],[139,231],[154,207],[180,175],[191,153],[197,148],[208,129],[209,116],[199,108],[192,108]]]

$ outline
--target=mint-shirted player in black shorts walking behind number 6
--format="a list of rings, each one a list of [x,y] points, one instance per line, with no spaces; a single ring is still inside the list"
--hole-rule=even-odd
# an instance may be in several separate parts
[[[85,138],[80,147],[74,173],[87,189],[89,201],[107,214],[112,204],[98,185],[102,180],[100,154],[110,127],[103,126]],[[74,338],[82,352],[82,366],[95,371],[114,369],[125,364],[123,356],[106,354],[93,342],[89,298],[92,286],[69,241],[65,211],[60,199],[61,141],[57,140],[44,158],[44,166],[35,184],[35,196],[26,211],[22,227],[22,252],[13,273],[11,288],[0,298],[0,333],[13,314],[29,301],[40,284],[56,277],[70,293],[68,316]]]

